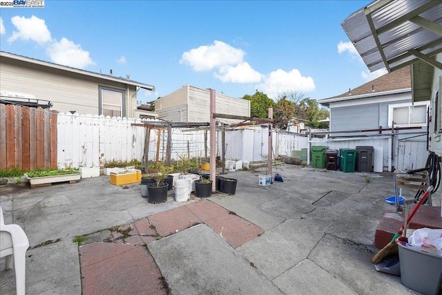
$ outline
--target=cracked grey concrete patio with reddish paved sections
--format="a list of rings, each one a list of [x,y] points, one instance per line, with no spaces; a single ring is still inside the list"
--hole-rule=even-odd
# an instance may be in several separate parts
[[[28,294],[416,294],[376,272],[374,230],[392,177],[281,165],[284,182],[230,172],[236,195],[148,204],[107,176],[0,187],[6,223],[30,240]],[[85,236],[84,245],[72,241]],[[1,265],[4,268],[4,260]],[[15,294],[13,272],[1,294]]]

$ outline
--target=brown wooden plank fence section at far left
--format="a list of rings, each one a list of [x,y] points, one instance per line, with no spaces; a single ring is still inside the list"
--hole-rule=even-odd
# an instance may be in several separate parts
[[[57,168],[57,111],[0,104],[0,169]]]

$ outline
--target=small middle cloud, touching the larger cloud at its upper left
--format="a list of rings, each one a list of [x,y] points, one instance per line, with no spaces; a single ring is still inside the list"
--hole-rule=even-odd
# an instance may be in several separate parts
[[[242,62],[236,66],[222,66],[218,73],[213,73],[213,76],[224,83],[256,83],[262,79],[262,75],[253,70],[247,62]]]

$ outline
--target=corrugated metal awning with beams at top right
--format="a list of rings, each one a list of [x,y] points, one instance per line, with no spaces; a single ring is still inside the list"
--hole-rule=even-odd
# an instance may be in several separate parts
[[[377,0],[341,25],[370,71],[416,61],[442,69],[442,0]]]

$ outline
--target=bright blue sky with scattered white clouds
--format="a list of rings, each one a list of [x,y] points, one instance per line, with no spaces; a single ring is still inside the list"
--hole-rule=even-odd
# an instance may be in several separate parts
[[[191,84],[322,99],[369,73],[340,23],[371,1],[44,1],[0,8],[8,53],[151,84],[150,102]]]

